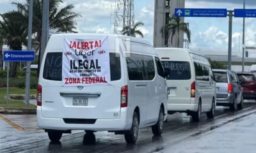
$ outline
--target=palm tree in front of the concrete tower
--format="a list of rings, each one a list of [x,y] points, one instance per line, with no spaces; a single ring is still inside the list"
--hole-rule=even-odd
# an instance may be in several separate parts
[[[163,34],[163,28],[165,33]],[[171,44],[172,44],[172,40],[173,40],[173,36],[177,33],[177,44],[178,44],[178,48],[180,47],[180,31],[183,31],[184,33],[186,33],[187,38],[188,38],[188,42],[190,43],[190,38],[191,38],[191,31],[188,28],[188,24],[182,22],[180,17],[175,17],[174,15],[172,15],[172,17],[168,18],[168,24],[164,25],[161,29],[161,33],[162,36],[164,35],[165,38],[170,37],[171,35]]]

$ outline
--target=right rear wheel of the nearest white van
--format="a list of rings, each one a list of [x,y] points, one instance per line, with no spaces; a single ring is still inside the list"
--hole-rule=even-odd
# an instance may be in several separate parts
[[[136,143],[139,134],[139,117],[136,112],[132,117],[132,128],[129,134],[125,134],[124,138],[127,143]]]

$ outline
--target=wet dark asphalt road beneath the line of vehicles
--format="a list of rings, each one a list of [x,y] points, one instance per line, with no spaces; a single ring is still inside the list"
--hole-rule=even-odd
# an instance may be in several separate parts
[[[108,132],[95,133],[96,138],[93,141],[93,138],[84,134],[84,131],[72,131],[71,135],[63,135],[60,143],[52,144],[47,133],[37,128],[35,115],[2,115],[23,131],[18,131],[17,127],[10,126],[0,119],[0,152],[163,152],[169,150],[168,146],[182,143],[191,137],[202,135],[211,129],[225,126],[232,120],[256,112],[255,103],[244,105],[244,109],[238,112],[218,107],[214,119],[207,119],[204,113],[200,123],[192,122],[191,117],[185,113],[168,115],[162,136],[153,136],[150,128],[140,129],[136,145],[127,145],[123,135]]]

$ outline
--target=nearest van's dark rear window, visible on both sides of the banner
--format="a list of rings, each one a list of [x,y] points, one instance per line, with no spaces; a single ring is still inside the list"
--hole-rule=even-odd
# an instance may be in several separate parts
[[[111,81],[120,80],[121,64],[120,54],[109,53],[110,78]],[[49,52],[45,58],[43,78],[52,81],[62,79],[62,52]]]

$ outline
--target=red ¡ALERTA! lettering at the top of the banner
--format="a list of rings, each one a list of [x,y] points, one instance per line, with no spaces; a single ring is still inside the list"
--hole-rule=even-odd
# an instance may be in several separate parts
[[[101,47],[101,40],[99,41],[70,41],[69,48],[78,50],[90,50]]]

